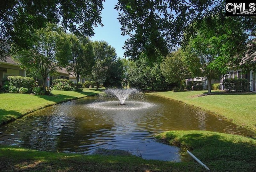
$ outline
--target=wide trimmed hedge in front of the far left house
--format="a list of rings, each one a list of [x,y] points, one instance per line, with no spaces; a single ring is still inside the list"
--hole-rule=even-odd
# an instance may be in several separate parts
[[[24,76],[8,76],[3,80],[4,90],[6,92],[13,92],[21,87],[27,88],[27,92],[31,92],[34,82],[34,78]]]

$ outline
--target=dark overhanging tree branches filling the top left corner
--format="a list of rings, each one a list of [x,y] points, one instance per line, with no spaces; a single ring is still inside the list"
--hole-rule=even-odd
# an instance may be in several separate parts
[[[60,24],[80,36],[94,35],[101,23],[105,0],[8,0],[0,6],[0,59],[4,59],[11,43],[28,48],[31,32],[46,27],[48,22]]]

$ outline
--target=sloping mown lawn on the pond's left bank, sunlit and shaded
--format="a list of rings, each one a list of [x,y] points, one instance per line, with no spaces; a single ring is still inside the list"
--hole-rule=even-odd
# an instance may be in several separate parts
[[[0,94],[0,125],[46,106],[102,93],[94,89],[83,92],[53,90],[51,96],[32,94]]]

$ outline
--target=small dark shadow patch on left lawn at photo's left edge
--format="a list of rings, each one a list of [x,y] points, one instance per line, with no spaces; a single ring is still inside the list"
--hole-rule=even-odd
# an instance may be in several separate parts
[[[7,122],[16,120],[17,118],[20,118],[22,116],[23,114],[15,110],[0,109],[0,126],[6,124]]]

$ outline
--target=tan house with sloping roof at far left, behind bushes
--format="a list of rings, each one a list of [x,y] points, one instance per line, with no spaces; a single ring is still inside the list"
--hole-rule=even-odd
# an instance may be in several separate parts
[[[20,64],[10,56],[6,57],[6,61],[0,60],[0,86],[2,86],[2,79],[7,76],[26,76],[26,70],[20,68]]]

